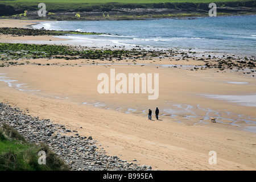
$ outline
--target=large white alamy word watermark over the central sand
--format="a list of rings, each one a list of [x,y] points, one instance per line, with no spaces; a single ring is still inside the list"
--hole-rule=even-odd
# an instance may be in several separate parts
[[[110,76],[106,73],[100,73],[97,80],[102,80],[98,86],[98,93],[148,93],[148,100],[156,100],[159,96],[159,73],[118,73],[115,75],[115,69],[110,69]],[[141,80],[141,81],[140,81]],[[115,81],[118,81],[117,83]],[[154,81],[154,88],[152,82]],[[140,90],[141,88],[141,90]]]

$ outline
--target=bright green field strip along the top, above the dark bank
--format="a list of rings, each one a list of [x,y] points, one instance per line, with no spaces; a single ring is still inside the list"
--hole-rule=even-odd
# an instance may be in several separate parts
[[[245,2],[246,0],[11,0],[11,1],[0,1],[2,5],[11,5],[15,9],[26,9],[38,10],[38,4],[43,2],[46,4],[46,9],[49,11],[57,10],[80,10],[88,9],[92,10],[93,7],[96,9],[98,7],[142,7],[142,8],[153,8],[158,6],[163,6],[167,3],[224,3],[224,2]],[[248,1],[248,0],[247,0]]]

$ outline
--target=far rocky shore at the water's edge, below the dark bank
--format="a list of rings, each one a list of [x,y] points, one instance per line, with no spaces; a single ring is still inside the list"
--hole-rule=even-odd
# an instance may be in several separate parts
[[[255,7],[218,7],[217,16],[234,15],[254,15]],[[209,7],[197,9],[196,7],[186,8],[161,8],[161,9],[142,9],[142,8],[120,8],[109,11],[58,11],[47,13],[45,17],[38,16],[38,11],[27,11],[26,17],[33,20],[146,20],[160,18],[195,18],[209,16]],[[20,18],[15,16],[13,18]]]

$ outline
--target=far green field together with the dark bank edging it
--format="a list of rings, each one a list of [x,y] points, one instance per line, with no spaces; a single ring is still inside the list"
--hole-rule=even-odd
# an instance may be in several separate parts
[[[48,13],[55,12],[82,12],[82,11],[111,11],[113,9],[121,8],[141,8],[141,9],[203,9],[209,10],[209,3],[211,0],[45,0],[43,3],[46,4],[46,10]],[[214,1],[217,7],[255,7],[255,0],[217,0]],[[0,2],[0,15],[14,15],[23,14],[24,11],[38,11],[39,2],[36,0],[7,0]],[[4,7],[5,6],[5,7]],[[7,7],[8,6],[8,7]],[[25,13],[26,14],[26,13]]]

